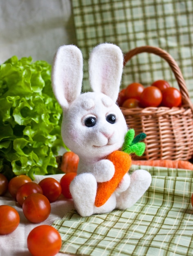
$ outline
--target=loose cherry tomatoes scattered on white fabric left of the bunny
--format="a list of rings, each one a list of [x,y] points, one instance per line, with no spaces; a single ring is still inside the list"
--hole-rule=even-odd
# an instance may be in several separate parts
[[[63,161],[66,161],[65,157]],[[63,162],[62,164],[64,165]],[[0,173],[0,196],[8,190],[13,199],[22,207],[27,220],[32,223],[43,222],[50,214],[51,203],[56,201],[61,194],[65,198],[72,198],[69,187],[70,182],[76,176],[77,168],[74,168],[74,172],[70,172],[70,168],[66,168],[66,171],[67,173],[63,175],[60,182],[52,177],[45,177],[39,183],[32,182],[27,175],[13,177],[8,182],[7,178]],[[15,208],[0,205],[0,235],[13,232],[19,223],[20,216]],[[59,252],[61,243],[60,234],[49,225],[34,228],[27,237],[28,249],[34,256],[54,256]]]

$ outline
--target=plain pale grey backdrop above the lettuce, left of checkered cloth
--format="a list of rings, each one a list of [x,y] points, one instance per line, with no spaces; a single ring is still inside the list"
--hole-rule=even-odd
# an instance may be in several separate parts
[[[52,63],[59,45],[76,43],[70,0],[0,0],[0,62],[13,55]]]

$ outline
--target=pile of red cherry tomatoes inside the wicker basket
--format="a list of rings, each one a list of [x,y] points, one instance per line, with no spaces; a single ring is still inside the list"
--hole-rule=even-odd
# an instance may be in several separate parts
[[[172,108],[181,106],[182,95],[165,80],[157,80],[146,88],[141,83],[131,83],[119,92],[117,103],[123,108]]]

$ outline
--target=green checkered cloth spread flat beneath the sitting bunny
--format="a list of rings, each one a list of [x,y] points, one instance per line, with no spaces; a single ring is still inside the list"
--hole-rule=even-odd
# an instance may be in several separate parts
[[[152,184],[126,211],[81,217],[70,211],[53,227],[61,252],[88,256],[192,256],[193,171],[149,166]]]

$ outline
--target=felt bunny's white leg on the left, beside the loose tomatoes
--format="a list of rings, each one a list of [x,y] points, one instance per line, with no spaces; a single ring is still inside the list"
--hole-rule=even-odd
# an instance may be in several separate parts
[[[81,216],[91,216],[94,213],[96,189],[96,179],[91,173],[81,173],[72,180],[70,193]]]

